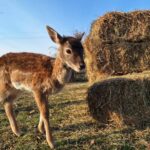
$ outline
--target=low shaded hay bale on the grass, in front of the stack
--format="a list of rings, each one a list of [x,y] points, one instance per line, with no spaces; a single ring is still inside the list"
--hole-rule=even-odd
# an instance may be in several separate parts
[[[139,126],[150,120],[150,72],[97,82],[88,89],[87,102],[101,123]]]

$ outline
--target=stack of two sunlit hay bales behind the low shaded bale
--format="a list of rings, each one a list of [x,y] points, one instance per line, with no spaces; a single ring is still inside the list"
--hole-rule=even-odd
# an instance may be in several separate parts
[[[149,70],[149,43],[150,11],[112,12],[98,18],[84,43],[89,80]]]

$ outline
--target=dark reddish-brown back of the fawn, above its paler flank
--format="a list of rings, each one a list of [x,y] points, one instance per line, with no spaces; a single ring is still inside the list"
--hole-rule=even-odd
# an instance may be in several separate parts
[[[35,53],[8,53],[0,57],[0,68],[7,67],[8,71],[49,72],[53,69],[53,59]]]

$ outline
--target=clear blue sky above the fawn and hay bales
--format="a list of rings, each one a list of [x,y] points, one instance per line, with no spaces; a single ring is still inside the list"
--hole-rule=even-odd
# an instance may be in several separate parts
[[[88,34],[109,11],[150,9],[150,0],[0,0],[0,55],[7,52],[55,53],[46,25],[60,34]]]

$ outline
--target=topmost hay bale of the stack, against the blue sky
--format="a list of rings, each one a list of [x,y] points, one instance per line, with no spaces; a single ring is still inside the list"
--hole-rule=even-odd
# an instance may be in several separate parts
[[[109,43],[143,41],[150,39],[149,23],[150,11],[111,12],[93,23],[91,36]]]

